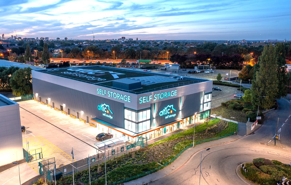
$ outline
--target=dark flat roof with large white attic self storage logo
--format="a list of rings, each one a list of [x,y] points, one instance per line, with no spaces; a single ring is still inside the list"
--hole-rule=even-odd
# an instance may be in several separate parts
[[[193,83],[210,81],[207,79],[196,79],[191,77],[181,77],[178,75],[169,75],[157,72],[145,72],[142,70],[123,69],[99,65],[43,69],[37,71],[76,81],[91,83],[98,86],[122,90],[134,94],[147,93],[150,91],[163,90],[173,87],[185,86]],[[127,90],[125,88],[120,89],[114,87],[113,81],[120,79],[128,79],[131,82],[139,82],[141,83],[141,88],[135,90]]]

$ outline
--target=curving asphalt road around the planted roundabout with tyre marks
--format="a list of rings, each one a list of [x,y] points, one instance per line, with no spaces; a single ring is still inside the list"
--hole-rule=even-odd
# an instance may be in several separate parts
[[[290,145],[290,102],[281,98],[278,100],[277,111],[266,115],[266,121],[255,134],[244,136],[231,143],[211,147],[210,150],[196,152],[180,168],[152,184],[246,184],[236,173],[237,167],[254,158],[263,157],[278,160],[283,163],[291,162]],[[278,122],[278,114],[280,114]],[[280,140],[274,145],[274,135],[278,122]]]

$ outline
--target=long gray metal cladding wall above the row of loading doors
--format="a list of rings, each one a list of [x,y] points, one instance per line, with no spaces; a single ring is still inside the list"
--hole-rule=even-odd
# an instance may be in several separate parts
[[[88,116],[89,119],[98,118],[118,127],[124,128],[123,103],[103,97],[98,97],[92,94],[81,92],[79,90],[63,87],[39,79],[33,78],[32,81],[33,93],[34,95],[38,93],[38,97],[36,97],[36,99],[39,99],[39,97],[41,97],[42,102],[45,102],[46,99],[48,100],[50,98],[50,101],[48,102],[49,105],[52,105],[52,102],[54,102],[54,106],[56,108],[60,108],[60,106],[63,106],[63,104],[65,104],[65,106],[63,107],[64,111],[68,112],[69,108],[70,113],[76,116],[77,112],[79,112],[79,118],[81,119],[86,120],[86,116]],[[110,107],[110,110],[113,113],[111,114],[111,116],[113,117],[112,119],[110,116],[103,115],[103,113],[105,112],[102,111],[102,108],[101,110],[98,110],[98,105],[102,104],[106,104],[103,105],[103,107]],[[103,108],[103,110],[105,109]],[[83,111],[84,113],[81,114],[81,111]]]

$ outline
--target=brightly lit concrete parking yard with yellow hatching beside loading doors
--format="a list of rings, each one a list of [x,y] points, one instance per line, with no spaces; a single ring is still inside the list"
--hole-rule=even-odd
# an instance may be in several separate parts
[[[74,161],[96,154],[95,137],[102,130],[33,100],[19,102],[19,107],[21,124],[27,128],[22,134],[23,148],[31,153],[42,150],[43,158],[29,163],[36,172],[44,159],[54,157],[57,167],[72,163],[72,147]]]

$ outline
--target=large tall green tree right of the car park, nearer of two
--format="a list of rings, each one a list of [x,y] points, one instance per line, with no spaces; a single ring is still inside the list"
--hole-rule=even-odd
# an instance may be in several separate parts
[[[271,108],[278,96],[278,79],[276,54],[273,45],[265,46],[258,60],[258,69],[255,72],[251,92],[253,106]],[[256,67],[255,67],[256,68]],[[260,96],[265,96],[260,98]]]

